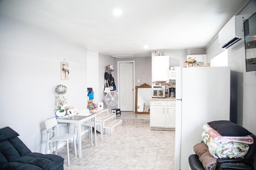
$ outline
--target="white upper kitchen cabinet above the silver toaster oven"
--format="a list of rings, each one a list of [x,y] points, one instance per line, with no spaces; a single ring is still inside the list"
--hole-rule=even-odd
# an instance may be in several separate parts
[[[169,56],[154,56],[152,62],[152,80],[169,80]]]

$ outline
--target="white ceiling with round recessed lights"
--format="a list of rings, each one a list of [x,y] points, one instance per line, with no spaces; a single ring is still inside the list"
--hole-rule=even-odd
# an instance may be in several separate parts
[[[0,13],[105,55],[205,49],[248,0],[0,0]],[[122,14],[113,14],[115,9]],[[147,45],[148,48],[144,48]]]

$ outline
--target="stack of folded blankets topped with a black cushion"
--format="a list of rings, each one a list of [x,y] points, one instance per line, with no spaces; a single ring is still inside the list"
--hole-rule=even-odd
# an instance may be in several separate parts
[[[244,158],[252,144],[251,132],[230,121],[212,121],[203,125],[204,143],[196,144],[194,152],[206,170],[216,167],[218,158]]]

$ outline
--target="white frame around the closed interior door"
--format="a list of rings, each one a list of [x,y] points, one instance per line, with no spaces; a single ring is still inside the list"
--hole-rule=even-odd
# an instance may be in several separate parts
[[[132,63],[132,69],[133,69],[133,112],[135,112],[135,61],[131,60],[131,61],[117,61],[117,77],[118,77],[118,81],[117,81],[117,89],[119,89],[120,87],[120,63]],[[119,98],[118,98],[118,108],[120,108],[120,93],[119,93]]]

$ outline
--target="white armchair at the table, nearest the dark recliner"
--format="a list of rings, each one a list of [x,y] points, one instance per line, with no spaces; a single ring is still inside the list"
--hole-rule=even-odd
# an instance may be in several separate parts
[[[71,133],[66,133],[66,134],[58,134],[59,132],[59,126],[64,125],[64,124],[60,124],[58,125],[58,122],[56,120],[55,117],[48,119],[47,121],[44,122],[46,131],[47,131],[47,140],[46,140],[46,148],[45,148],[45,154],[47,154],[48,151],[48,146],[50,145],[50,142],[55,142],[55,154],[57,154],[57,150],[58,150],[58,141],[66,141],[67,144],[67,155],[68,155],[68,166],[69,166],[69,147],[68,147],[68,141],[71,140],[73,138],[74,140],[74,149],[75,149],[75,156],[76,156],[76,140],[75,140],[75,134],[71,134]],[[56,130],[53,130],[52,128],[56,127]],[[55,135],[50,138],[50,134],[54,134]],[[52,153],[52,150],[50,148],[50,152]]]

